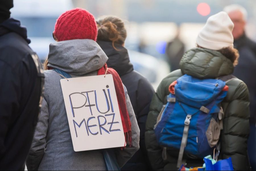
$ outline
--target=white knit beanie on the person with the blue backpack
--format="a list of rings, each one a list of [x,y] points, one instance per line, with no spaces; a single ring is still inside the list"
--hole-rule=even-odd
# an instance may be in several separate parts
[[[220,50],[221,48],[234,46],[232,30],[234,24],[225,12],[219,12],[210,16],[203,29],[197,36],[197,44],[203,48]]]

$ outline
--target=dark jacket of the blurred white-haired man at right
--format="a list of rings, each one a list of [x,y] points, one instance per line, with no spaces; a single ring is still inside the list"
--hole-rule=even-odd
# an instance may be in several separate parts
[[[234,40],[240,57],[233,75],[242,80],[249,89],[250,95],[250,124],[256,123],[256,43],[245,34]]]

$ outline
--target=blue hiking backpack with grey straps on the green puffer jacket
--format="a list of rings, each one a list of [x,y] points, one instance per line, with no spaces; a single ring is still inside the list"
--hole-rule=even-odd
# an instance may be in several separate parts
[[[212,154],[222,129],[224,113],[220,103],[228,86],[222,80],[183,75],[170,85],[169,91],[154,132],[165,150],[179,149],[177,167],[180,167],[184,163],[184,150],[200,158]]]

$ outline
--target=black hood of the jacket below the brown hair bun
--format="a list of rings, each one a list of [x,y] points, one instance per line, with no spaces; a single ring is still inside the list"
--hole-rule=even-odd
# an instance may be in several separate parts
[[[133,71],[133,64],[131,64],[127,49],[119,44],[115,44],[118,50],[112,46],[112,42],[97,41],[102,50],[108,56],[107,65],[116,70],[119,76],[123,76]]]

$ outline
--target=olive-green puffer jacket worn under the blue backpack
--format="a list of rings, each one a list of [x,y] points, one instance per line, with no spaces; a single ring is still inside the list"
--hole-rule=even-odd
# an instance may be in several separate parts
[[[195,78],[217,78],[233,73],[234,66],[228,58],[216,50],[193,48],[188,50],[180,62],[181,70],[168,74],[153,96],[146,121],[145,141],[148,157],[154,170],[176,170],[177,158],[162,159],[162,148],[154,134],[154,125],[162,105],[167,103],[169,85],[183,74]],[[218,159],[232,158],[235,170],[249,170],[247,139],[249,135],[249,92],[244,82],[234,78],[227,82],[228,94],[222,101],[224,110],[223,130],[220,135],[220,155]],[[171,156],[178,156],[179,150],[169,150]],[[169,156],[170,156],[169,155]],[[202,159],[200,159],[202,161]],[[193,160],[192,160],[193,161]],[[188,163],[188,161],[187,161]],[[189,165],[189,163],[188,163]],[[200,165],[197,165],[200,166]]]

